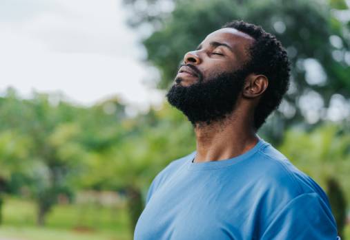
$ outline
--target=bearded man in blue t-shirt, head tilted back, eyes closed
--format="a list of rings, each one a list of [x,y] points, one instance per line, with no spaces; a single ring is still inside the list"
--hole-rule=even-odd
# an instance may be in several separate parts
[[[233,21],[184,56],[166,95],[196,151],[153,180],[135,240],[340,239],[327,195],[257,135],[289,87],[275,36]]]

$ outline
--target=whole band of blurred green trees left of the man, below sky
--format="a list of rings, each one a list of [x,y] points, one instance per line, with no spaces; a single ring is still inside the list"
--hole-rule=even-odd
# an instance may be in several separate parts
[[[1,99],[0,173],[9,192],[35,199],[42,225],[60,195],[117,190],[126,193],[135,226],[155,175],[193,150],[191,125],[168,105],[130,119],[117,99],[82,108],[50,98],[21,100],[11,90]]]

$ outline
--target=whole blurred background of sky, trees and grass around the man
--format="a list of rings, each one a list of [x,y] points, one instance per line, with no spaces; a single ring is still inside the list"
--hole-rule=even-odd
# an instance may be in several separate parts
[[[275,34],[291,87],[259,135],[350,239],[349,0],[0,0],[0,239],[132,239],[150,182],[195,150],[164,94],[233,19]]]

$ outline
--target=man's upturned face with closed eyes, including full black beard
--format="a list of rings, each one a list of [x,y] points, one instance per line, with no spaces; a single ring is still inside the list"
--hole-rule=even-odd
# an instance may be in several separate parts
[[[233,28],[212,32],[184,56],[175,83],[166,94],[168,102],[192,122],[225,118],[237,102],[249,74],[244,65],[253,38]]]

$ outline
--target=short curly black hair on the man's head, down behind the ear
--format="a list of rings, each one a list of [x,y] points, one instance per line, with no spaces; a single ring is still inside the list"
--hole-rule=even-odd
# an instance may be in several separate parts
[[[231,21],[222,28],[235,28],[255,39],[249,48],[249,73],[263,74],[269,85],[260,98],[254,113],[254,127],[259,129],[272,111],[278,108],[282,97],[289,89],[290,62],[284,47],[273,34],[259,25],[244,21]]]

